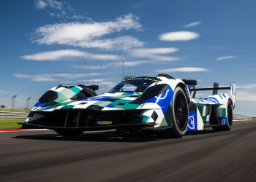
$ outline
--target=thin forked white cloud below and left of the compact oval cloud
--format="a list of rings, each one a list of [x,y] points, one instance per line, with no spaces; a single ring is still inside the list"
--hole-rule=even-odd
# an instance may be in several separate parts
[[[150,58],[155,61],[176,61],[179,58],[167,56],[167,54],[177,52],[178,48],[166,47],[166,48],[143,48],[131,50],[130,54],[135,58]]]

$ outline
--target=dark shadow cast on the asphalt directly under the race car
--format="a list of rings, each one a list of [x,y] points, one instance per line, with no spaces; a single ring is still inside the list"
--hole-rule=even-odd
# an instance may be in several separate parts
[[[186,135],[205,135],[213,133],[213,130],[203,130],[197,132],[187,132]],[[186,138],[186,135],[184,138]],[[172,135],[162,132],[149,133],[133,133],[120,134],[116,132],[92,132],[79,135],[76,137],[64,137],[58,134],[35,134],[35,135],[18,135],[12,138],[29,139],[29,140],[44,140],[44,141],[91,141],[91,142],[151,142],[161,141],[165,139],[181,140]]]

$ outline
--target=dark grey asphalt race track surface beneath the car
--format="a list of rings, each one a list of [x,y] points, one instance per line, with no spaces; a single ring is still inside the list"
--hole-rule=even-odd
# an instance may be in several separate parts
[[[256,121],[184,138],[0,132],[0,181],[256,181]]]

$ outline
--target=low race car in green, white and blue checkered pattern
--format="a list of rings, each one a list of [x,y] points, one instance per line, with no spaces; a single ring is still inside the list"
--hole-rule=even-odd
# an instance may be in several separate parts
[[[126,76],[108,92],[97,95],[97,85],[53,87],[34,108],[23,127],[47,128],[60,135],[88,130],[165,131],[181,138],[187,131],[230,130],[236,107],[236,83],[230,87],[196,88],[196,80],[168,74]],[[212,90],[206,98],[196,92]],[[218,93],[230,90],[230,93]]]

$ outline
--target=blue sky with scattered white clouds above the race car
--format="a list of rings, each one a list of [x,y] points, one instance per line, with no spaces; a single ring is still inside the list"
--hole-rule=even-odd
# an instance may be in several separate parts
[[[255,116],[255,1],[1,1],[0,104],[31,105],[58,84],[171,74],[238,84],[236,114]]]

